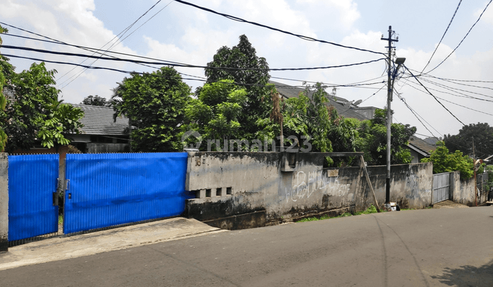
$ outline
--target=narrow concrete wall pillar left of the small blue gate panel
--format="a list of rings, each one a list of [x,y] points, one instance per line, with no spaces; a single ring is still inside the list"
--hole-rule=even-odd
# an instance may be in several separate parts
[[[0,152],[0,251],[8,251],[8,154]]]

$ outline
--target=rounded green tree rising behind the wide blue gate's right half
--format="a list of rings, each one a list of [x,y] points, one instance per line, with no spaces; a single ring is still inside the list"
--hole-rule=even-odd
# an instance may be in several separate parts
[[[137,152],[181,150],[179,126],[190,101],[190,87],[179,73],[163,67],[151,73],[131,74],[113,90],[114,118],[126,115],[132,127],[131,147]]]

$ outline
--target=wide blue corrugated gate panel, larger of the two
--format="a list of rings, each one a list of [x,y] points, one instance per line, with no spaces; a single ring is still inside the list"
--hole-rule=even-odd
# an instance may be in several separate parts
[[[187,156],[67,154],[64,233],[180,215]]]

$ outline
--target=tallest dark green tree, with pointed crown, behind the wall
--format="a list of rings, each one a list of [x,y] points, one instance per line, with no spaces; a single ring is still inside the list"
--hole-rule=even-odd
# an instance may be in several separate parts
[[[244,133],[253,137],[257,131],[255,122],[259,118],[267,118],[272,109],[270,92],[273,87],[268,85],[270,76],[266,59],[257,57],[255,48],[247,36],[242,35],[238,45],[233,48],[223,46],[218,49],[213,61],[207,63],[207,67],[207,83],[227,79],[247,90],[247,100],[242,104],[244,113],[238,121],[242,124]],[[197,94],[200,94],[200,89],[197,90]]]

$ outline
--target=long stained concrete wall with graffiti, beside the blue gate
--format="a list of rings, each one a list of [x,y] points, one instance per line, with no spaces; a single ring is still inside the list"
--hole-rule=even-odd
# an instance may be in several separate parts
[[[296,157],[290,165],[289,156]],[[317,153],[195,152],[188,157],[189,217],[218,221],[264,211],[265,223],[320,213],[364,210],[375,204],[363,169],[324,169]],[[392,167],[391,199],[403,208],[431,204],[431,163]],[[385,202],[385,167],[368,167],[379,205]],[[258,223],[258,222],[257,222]],[[255,221],[252,222],[255,225]],[[221,221],[219,227],[231,226]],[[230,228],[231,229],[231,228]]]

